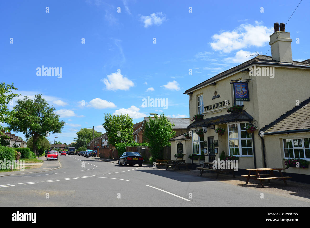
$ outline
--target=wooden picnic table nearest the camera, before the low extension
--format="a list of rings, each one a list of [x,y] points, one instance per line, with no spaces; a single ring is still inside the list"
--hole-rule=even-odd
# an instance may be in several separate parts
[[[264,184],[263,181],[268,180],[268,183],[270,182],[270,180],[272,179],[281,179],[283,180],[285,186],[287,186],[286,183],[286,179],[288,178],[292,178],[292,177],[284,177],[283,173],[281,172],[281,170],[283,170],[284,168],[259,168],[259,169],[246,169],[249,170],[249,174],[248,175],[241,175],[241,177],[246,177],[246,184],[248,184],[249,179],[253,179],[253,180],[258,180],[260,182],[260,184],[262,185],[262,187],[264,188]],[[273,173],[274,170],[278,170],[281,177],[276,177]],[[266,174],[260,174],[261,171],[268,171],[269,173]],[[252,174],[251,172],[255,172],[256,174]],[[264,177],[266,176],[266,177]]]

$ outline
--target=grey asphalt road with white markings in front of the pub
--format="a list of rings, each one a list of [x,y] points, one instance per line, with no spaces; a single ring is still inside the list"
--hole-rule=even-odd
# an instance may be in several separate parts
[[[60,169],[0,177],[0,205],[309,206],[306,201],[264,189],[243,188],[146,165],[119,166],[78,155],[59,156],[59,160]]]

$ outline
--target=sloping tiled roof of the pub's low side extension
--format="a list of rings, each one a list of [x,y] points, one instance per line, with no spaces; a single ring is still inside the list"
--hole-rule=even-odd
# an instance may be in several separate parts
[[[265,125],[260,132],[264,135],[287,134],[310,131],[310,98],[284,113],[272,123]]]

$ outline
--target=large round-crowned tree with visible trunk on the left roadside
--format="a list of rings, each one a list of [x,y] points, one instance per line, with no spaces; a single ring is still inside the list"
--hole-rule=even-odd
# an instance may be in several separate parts
[[[41,94],[36,94],[34,100],[25,96],[24,99],[18,99],[16,103],[9,129],[22,132],[26,139],[33,137],[34,153],[37,152],[37,142],[40,136],[45,136],[50,132],[61,133],[65,122],[59,120],[59,116],[54,112],[55,107],[49,106]]]

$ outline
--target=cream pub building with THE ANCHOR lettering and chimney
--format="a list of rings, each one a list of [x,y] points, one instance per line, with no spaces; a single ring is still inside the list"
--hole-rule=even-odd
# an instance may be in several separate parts
[[[181,148],[187,163],[192,163],[191,154],[203,152],[208,155],[205,161],[213,161],[224,151],[238,156],[239,175],[247,174],[245,169],[286,168],[284,162],[290,158],[310,161],[310,104],[303,107],[310,101],[310,59],[293,61],[290,33],[284,23],[280,28],[275,23],[274,29],[269,42],[272,56],[257,55],[184,92],[189,96],[190,119],[203,117],[190,121],[189,139],[183,134],[170,139],[171,158]],[[228,113],[234,105],[242,111]],[[289,121],[294,124],[286,126]],[[247,125],[258,129],[248,133]],[[217,128],[225,129],[224,134],[215,133]],[[290,167],[283,172],[292,180],[310,182],[309,170]]]

